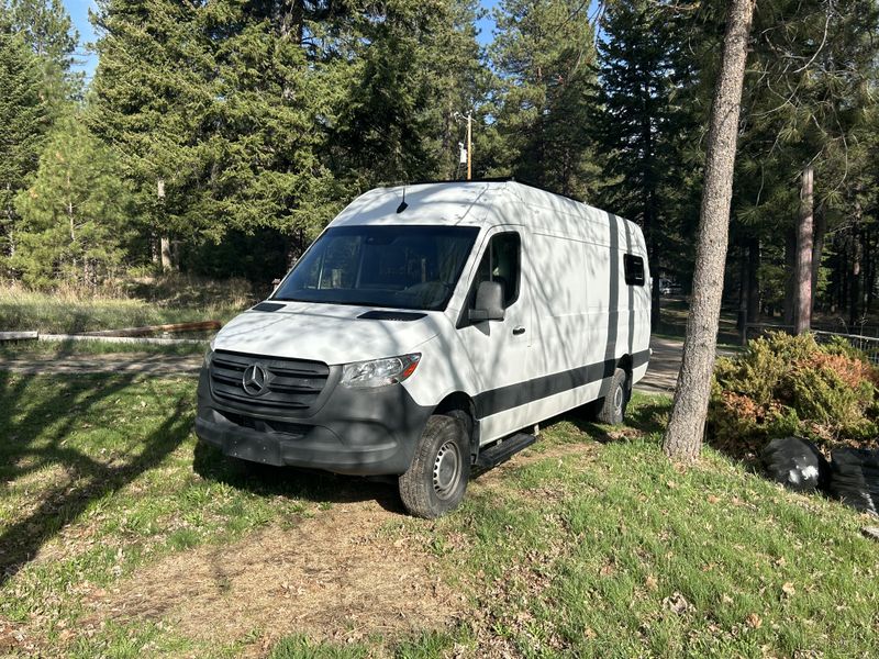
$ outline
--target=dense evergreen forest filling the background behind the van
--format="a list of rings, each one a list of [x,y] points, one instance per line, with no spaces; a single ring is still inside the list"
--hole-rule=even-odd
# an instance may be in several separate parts
[[[687,290],[692,272],[725,10],[502,0],[481,47],[475,0],[98,0],[86,83],[60,1],[5,0],[0,268],[36,287],[270,280],[359,192],[461,178],[472,113],[476,177],[644,227],[658,314],[660,278]],[[878,12],[756,9],[726,273],[741,322],[876,305]]]

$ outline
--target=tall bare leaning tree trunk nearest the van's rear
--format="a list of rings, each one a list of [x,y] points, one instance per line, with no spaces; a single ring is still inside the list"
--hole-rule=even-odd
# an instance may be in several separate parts
[[[663,450],[678,461],[692,461],[702,450],[717,347],[738,113],[754,4],[755,0],[730,3],[723,60],[711,105],[692,305],[687,319],[675,406],[663,439]]]

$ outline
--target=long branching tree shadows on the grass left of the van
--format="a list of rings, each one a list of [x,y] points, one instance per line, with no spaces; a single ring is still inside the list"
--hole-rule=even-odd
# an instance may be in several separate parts
[[[76,522],[93,501],[124,488],[164,460],[187,438],[192,423],[189,396],[169,401],[165,420],[135,450],[102,463],[70,448],[67,438],[97,403],[121,393],[136,376],[56,377],[48,381],[56,388],[53,395],[31,406],[27,399],[36,394],[29,391],[29,386],[34,378],[0,372],[0,406],[7,410],[0,417],[0,481],[14,483],[56,465],[66,470],[67,478],[40,491],[36,507],[0,535],[0,585],[32,560],[43,545]],[[20,409],[26,412],[16,416]],[[47,431],[53,423],[55,426]]]

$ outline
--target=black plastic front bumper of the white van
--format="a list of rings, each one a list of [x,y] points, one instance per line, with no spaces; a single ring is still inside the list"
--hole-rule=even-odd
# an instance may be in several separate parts
[[[196,434],[225,455],[276,466],[355,476],[399,474],[409,469],[430,407],[402,386],[379,389],[333,387],[308,416],[267,413],[256,405],[219,400],[202,368]]]

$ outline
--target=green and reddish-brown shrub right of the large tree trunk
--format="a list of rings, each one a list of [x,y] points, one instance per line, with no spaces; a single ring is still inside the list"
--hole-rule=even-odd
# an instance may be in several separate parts
[[[714,369],[708,439],[737,455],[774,437],[819,445],[877,434],[879,372],[843,339],[769,333]]]

